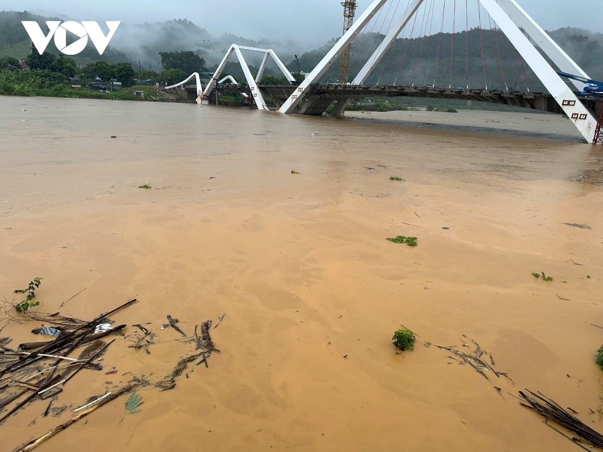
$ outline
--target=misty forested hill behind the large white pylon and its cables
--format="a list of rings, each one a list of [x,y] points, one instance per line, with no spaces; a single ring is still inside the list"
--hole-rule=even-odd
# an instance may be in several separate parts
[[[561,28],[550,34],[590,77],[603,80],[603,34],[576,28]],[[469,87],[480,88],[485,86],[484,81],[487,80],[490,89],[515,87],[519,90],[545,90],[500,30],[482,30],[480,33],[479,28],[474,28],[468,34],[465,31],[455,33],[453,58],[452,37],[452,33],[443,33],[441,36],[434,34],[410,40],[397,39],[365,84],[410,86],[414,83],[415,86],[431,86],[435,78],[437,87],[467,87],[469,84]],[[466,52],[467,37],[469,58]],[[383,39],[384,36],[377,33],[356,38],[350,57],[350,81]],[[482,58],[482,40],[485,58]],[[320,49],[302,54],[299,57],[301,70],[311,71],[332,44],[330,42]],[[290,70],[295,69],[293,61],[287,66]],[[322,82],[337,81],[338,71],[339,64],[336,63],[324,75]]]

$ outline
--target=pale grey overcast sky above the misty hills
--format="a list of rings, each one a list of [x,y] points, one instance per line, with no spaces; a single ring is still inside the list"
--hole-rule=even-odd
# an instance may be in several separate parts
[[[408,0],[400,2],[404,8]],[[442,0],[435,0],[441,5]],[[170,0],[74,2],[72,0],[0,0],[0,10],[43,10],[70,16],[74,20],[122,20],[157,22],[189,19],[206,28],[213,36],[224,32],[249,39],[292,39],[307,43],[324,43],[341,36],[343,8],[341,0]],[[579,27],[603,33],[602,0],[517,0],[541,27],[554,30]],[[359,15],[371,0],[359,0]],[[457,20],[464,29],[464,1],[456,0]],[[453,4],[448,0],[447,8]],[[473,5],[473,6],[472,6]],[[441,7],[440,7],[441,8]],[[470,22],[476,17],[476,0],[469,0]],[[450,16],[451,14],[447,14]],[[476,25],[475,23],[471,24]],[[458,30],[457,22],[457,30]]]

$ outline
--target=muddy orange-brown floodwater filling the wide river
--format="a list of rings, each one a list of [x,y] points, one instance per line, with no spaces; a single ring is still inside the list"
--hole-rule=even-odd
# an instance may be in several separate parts
[[[524,388],[603,431],[603,148],[559,116],[401,113],[2,96],[0,295],[42,277],[40,309],[84,319],[135,296],[115,320],[151,322],[160,342],[116,336],[103,362],[118,374],[80,372],[61,416],[17,412],[2,450],[132,374],[169,372],[183,350],[159,330],[168,314],[192,334],[226,313],[209,367],[39,450],[577,449],[520,406]],[[398,235],[418,246],[385,240]],[[414,351],[391,344],[400,324]],[[1,335],[36,341],[34,326]],[[514,385],[435,347],[470,339]]]

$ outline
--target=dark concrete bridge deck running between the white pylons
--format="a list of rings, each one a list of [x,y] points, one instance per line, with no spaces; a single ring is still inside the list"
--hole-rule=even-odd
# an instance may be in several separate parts
[[[297,89],[296,86],[259,86],[264,98],[270,98],[274,107],[278,108]],[[247,93],[251,90],[247,85],[220,85],[221,93]],[[215,96],[215,91],[212,92]],[[355,86],[343,84],[313,85],[306,102],[306,115],[321,115],[332,101],[367,97],[420,97],[434,99],[455,99],[460,101],[488,102],[490,104],[513,105],[514,107],[531,108],[532,110],[563,113],[555,98],[546,93],[524,93],[516,91],[490,91],[485,89],[446,89],[432,87],[409,86]],[[590,110],[599,111],[601,99],[584,99],[582,102]]]

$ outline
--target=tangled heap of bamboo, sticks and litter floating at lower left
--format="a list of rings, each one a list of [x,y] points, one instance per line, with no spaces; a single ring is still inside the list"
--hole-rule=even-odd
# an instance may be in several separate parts
[[[63,392],[66,383],[82,369],[103,370],[103,366],[99,364],[99,361],[102,359],[101,356],[116,340],[112,339],[109,342],[102,340],[107,336],[121,333],[125,342],[132,342],[131,345],[128,345],[128,348],[144,350],[145,353],[150,354],[150,345],[157,344],[157,334],[144,326],[150,325],[150,323],[132,325],[135,328],[133,332],[124,336],[123,330],[127,325],[112,326],[113,322],[108,318],[113,313],[136,303],[136,301],[136,298],[128,300],[127,303],[110,312],[99,315],[92,321],[68,318],[59,315],[59,313],[48,314],[33,312],[31,310],[27,313],[22,312],[22,315],[25,315],[28,319],[43,322],[42,326],[33,328],[31,330],[32,333],[42,334],[43,336],[52,338],[52,340],[24,342],[19,344],[18,347],[10,347],[12,339],[10,337],[0,337],[0,424],[22,407],[37,400],[50,399],[46,409],[42,413],[43,417],[48,415],[60,416],[72,407],[72,404],[55,406],[53,403],[58,400],[59,394]],[[10,309],[10,307],[14,307],[14,305],[8,303],[7,308]],[[7,309],[5,309],[5,313],[7,313]],[[202,322],[198,326],[195,325],[194,336],[187,336],[178,327],[178,319],[172,318],[169,315],[167,318],[168,323],[163,325],[161,329],[171,327],[182,334],[182,339],[176,339],[176,341],[194,345],[194,354],[180,359],[173,371],[158,383],[151,383],[144,376],[133,376],[122,388],[114,386],[110,391],[109,389],[105,389],[104,394],[101,393],[101,395],[88,398],[84,403],[81,403],[81,406],[74,409],[74,415],[71,419],[52,428],[52,430],[40,436],[40,438],[22,445],[17,450],[25,452],[33,449],[92,411],[124,394],[131,394],[130,398],[125,402],[128,414],[140,412],[139,406],[143,402],[142,397],[135,392],[137,389],[142,389],[145,386],[155,386],[162,389],[162,391],[172,389],[175,386],[176,378],[183,374],[189,363],[197,361],[193,369],[201,364],[207,367],[207,360],[211,354],[219,351],[215,347],[209,333],[212,321]],[[223,318],[224,316],[221,319]],[[23,323],[22,317],[11,317],[9,320]],[[197,333],[198,330],[200,334]],[[80,351],[78,357],[72,357],[77,351]],[[110,369],[112,370],[105,372],[106,375],[116,374],[117,370],[115,367]],[[125,372],[125,374],[128,373],[130,372]],[[188,374],[186,377],[188,378]],[[65,396],[61,395],[60,397]],[[35,419],[31,424],[34,423]]]

